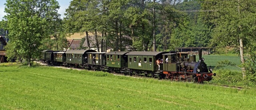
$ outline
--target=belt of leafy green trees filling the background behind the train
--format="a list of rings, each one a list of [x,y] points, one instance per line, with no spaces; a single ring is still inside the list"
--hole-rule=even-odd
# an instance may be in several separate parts
[[[56,0],[6,0],[5,6],[0,32],[9,32],[7,55],[28,65],[44,49],[67,48],[73,33],[85,33],[84,41],[93,33],[97,51],[214,47],[222,54],[232,46],[243,77],[256,82],[256,0],[72,0],[64,18]]]

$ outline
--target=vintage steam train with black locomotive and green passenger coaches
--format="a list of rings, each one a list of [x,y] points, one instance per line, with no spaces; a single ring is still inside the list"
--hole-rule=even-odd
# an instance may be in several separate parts
[[[44,50],[41,54],[41,61],[51,65],[144,75],[174,81],[192,81],[195,83],[210,81],[212,76],[216,76],[216,73],[212,73],[212,67],[208,68],[204,63],[202,49],[198,49],[198,53],[199,59],[196,61],[196,55],[176,51]]]

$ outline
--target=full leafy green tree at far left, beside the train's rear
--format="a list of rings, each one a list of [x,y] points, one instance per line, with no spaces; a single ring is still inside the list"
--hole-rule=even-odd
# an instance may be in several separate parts
[[[40,53],[42,39],[50,36],[49,23],[52,16],[57,16],[60,6],[56,0],[6,0],[5,5],[4,18],[8,20],[6,29],[10,39],[7,56],[20,56],[30,66],[32,57]]]

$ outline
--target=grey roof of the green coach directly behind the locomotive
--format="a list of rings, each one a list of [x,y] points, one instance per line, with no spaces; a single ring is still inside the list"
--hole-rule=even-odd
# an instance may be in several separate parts
[[[167,51],[131,51],[126,55],[146,55],[146,56],[156,56],[158,54],[168,53]]]

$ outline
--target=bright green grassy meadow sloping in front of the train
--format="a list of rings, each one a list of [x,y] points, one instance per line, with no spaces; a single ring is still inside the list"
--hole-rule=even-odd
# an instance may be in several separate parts
[[[255,89],[53,67],[0,66],[0,93],[0,109],[256,109]]]

